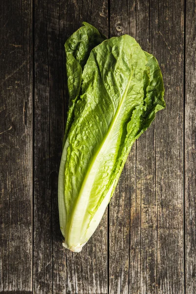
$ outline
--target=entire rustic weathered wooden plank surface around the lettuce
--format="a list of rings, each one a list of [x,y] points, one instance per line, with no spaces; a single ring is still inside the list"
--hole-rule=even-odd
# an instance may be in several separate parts
[[[196,293],[196,1],[1,0],[0,294]],[[132,148],[81,253],[62,247],[57,178],[66,39],[82,21],[159,61],[167,108]]]

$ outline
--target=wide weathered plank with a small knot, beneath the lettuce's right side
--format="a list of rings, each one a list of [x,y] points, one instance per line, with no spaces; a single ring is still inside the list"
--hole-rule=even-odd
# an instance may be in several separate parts
[[[111,1],[111,34],[129,33],[144,50],[157,57],[165,81],[167,108],[157,114],[155,123],[137,141],[136,153],[127,160],[110,204],[114,210],[110,212],[110,222],[117,221],[118,225],[111,224],[110,235],[115,238],[110,239],[113,245],[110,277],[113,279],[109,293],[117,293],[117,289],[121,289],[119,293],[128,291],[127,282],[124,283],[127,280],[122,263],[124,256],[129,262],[130,293],[184,293],[183,10],[181,1]],[[130,197],[135,200],[130,212],[125,205],[120,205],[115,212],[115,206],[119,207],[117,199],[128,191],[123,185],[126,173],[136,176],[135,186],[133,180],[128,185],[132,187]],[[122,223],[124,219],[130,222],[126,237],[127,240],[130,235],[130,249],[128,242],[119,247],[123,238],[113,233],[116,227],[121,232],[126,229],[127,222],[126,226]]]

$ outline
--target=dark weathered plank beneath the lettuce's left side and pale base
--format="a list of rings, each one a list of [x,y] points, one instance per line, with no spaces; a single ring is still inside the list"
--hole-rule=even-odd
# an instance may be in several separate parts
[[[107,34],[107,2],[35,3],[33,289],[40,294],[107,293],[107,214],[79,254],[62,246],[58,221],[57,178],[66,116],[64,43],[82,21]],[[65,96],[67,109],[68,96]]]

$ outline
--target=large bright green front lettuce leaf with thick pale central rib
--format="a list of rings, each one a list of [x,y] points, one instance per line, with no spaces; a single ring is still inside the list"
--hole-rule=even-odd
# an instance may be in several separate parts
[[[128,35],[92,49],[82,80],[58,184],[64,246],[75,252],[96,230],[131,146],[165,107],[156,59]]]

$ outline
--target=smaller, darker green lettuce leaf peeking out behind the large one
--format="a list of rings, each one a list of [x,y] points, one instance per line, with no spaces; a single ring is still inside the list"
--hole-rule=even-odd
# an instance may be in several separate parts
[[[73,110],[80,93],[84,65],[89,58],[91,50],[106,39],[93,25],[89,25],[85,22],[82,24],[83,26],[75,31],[65,43],[69,110],[65,126],[63,147],[73,122]]]

